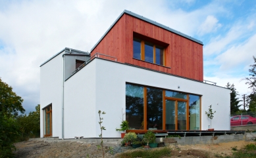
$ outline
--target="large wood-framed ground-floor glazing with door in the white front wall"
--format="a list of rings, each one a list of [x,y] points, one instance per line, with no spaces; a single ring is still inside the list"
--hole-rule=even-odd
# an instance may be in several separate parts
[[[200,130],[200,96],[126,84],[130,130]]]

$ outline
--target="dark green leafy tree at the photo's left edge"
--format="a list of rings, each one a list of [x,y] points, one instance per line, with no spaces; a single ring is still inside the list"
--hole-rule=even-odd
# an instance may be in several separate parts
[[[24,113],[22,98],[0,78],[0,157],[13,157],[13,143],[20,136],[16,122],[18,113]]]

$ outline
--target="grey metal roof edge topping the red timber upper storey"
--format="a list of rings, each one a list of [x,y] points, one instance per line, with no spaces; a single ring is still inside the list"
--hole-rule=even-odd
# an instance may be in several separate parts
[[[103,36],[101,36],[101,38],[100,38],[99,41],[97,41],[97,43],[93,46],[93,48],[91,49],[91,51],[92,51],[93,49],[95,49],[95,47],[96,47],[97,45],[99,45],[99,43],[101,42],[101,40],[105,37],[105,35],[107,35],[107,33],[109,33],[109,31],[113,28],[113,26],[115,26],[116,22],[118,22],[118,20],[122,17],[123,14],[129,14],[130,16],[134,16],[134,17],[136,17],[136,18],[139,18],[140,20],[143,20],[143,21],[145,21],[145,22],[149,22],[150,24],[153,24],[153,25],[155,25],[155,26],[159,26],[160,28],[163,28],[163,29],[165,29],[165,30],[171,31],[171,32],[173,32],[173,33],[176,33],[177,35],[181,35],[182,37],[185,37],[185,38],[187,38],[187,39],[190,39],[190,40],[192,40],[192,41],[195,41],[196,43],[199,43],[200,45],[203,45],[203,42],[202,42],[202,41],[199,41],[198,39],[195,39],[195,38],[193,38],[193,37],[190,37],[189,35],[186,35],[186,34],[184,34],[184,33],[181,33],[180,31],[176,31],[176,30],[174,30],[174,29],[172,29],[172,28],[169,28],[168,26],[165,26],[165,25],[163,25],[163,24],[160,24],[160,23],[158,23],[158,22],[155,22],[155,21],[153,21],[153,20],[150,20],[149,18],[145,18],[145,17],[143,17],[143,16],[141,16],[141,15],[139,15],[139,14],[136,14],[136,13],[134,13],[134,12],[131,12],[131,11],[129,11],[129,10],[124,10],[124,11],[118,16],[118,18],[116,18],[115,22],[110,26],[110,28],[103,34]]]

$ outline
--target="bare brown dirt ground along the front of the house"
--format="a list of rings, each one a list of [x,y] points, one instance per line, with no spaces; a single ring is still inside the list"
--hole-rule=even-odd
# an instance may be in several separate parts
[[[232,155],[232,148],[241,149],[251,142],[239,141],[211,145],[170,145],[171,157],[218,157]],[[29,140],[14,144],[16,157],[102,157],[99,144],[85,142],[41,142]],[[107,144],[106,144],[107,145]],[[144,149],[144,148],[140,148]],[[160,149],[160,148],[154,148]],[[134,151],[131,147],[106,146],[105,157],[116,157],[120,152]]]

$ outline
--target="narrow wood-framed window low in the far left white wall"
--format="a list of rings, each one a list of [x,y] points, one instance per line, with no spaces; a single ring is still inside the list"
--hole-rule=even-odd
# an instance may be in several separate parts
[[[44,136],[52,136],[53,135],[53,128],[52,128],[52,116],[51,116],[51,112],[52,112],[52,107],[47,106],[47,108],[44,109],[44,113],[45,113],[45,131],[44,131]]]

